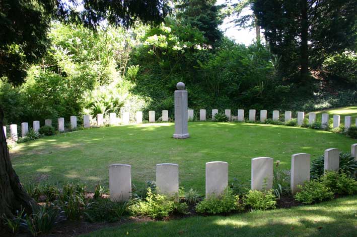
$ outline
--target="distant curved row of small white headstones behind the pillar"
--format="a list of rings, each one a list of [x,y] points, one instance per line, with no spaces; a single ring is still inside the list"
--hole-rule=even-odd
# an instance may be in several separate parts
[[[218,113],[218,109],[212,109],[212,120],[214,121],[215,115]],[[194,110],[193,109],[188,109],[187,110],[187,119],[192,120],[194,117]],[[232,115],[231,115],[231,109],[225,109],[225,114],[228,117],[228,120],[232,120]],[[309,116],[309,124],[314,124],[316,122],[316,113],[310,112],[308,114]],[[162,121],[163,122],[168,122],[169,121],[169,111],[168,110],[162,110]],[[305,113],[304,112],[298,112],[297,114],[297,124],[298,125],[303,125],[305,118]],[[267,119],[267,110],[260,110],[260,122],[265,122]],[[124,125],[129,124],[129,112],[123,112],[121,122]],[[199,120],[200,121],[206,121],[206,110],[205,109],[200,109],[199,110]],[[237,114],[237,121],[244,121],[244,109],[238,109],[238,114]],[[273,121],[278,121],[279,120],[279,111],[274,110],[273,115],[272,115],[272,120]],[[284,114],[284,121],[285,123],[289,122],[292,120],[292,112],[291,111],[285,111]],[[344,128],[347,130],[349,127],[351,127],[351,116],[345,116],[344,117]],[[155,123],[155,111],[151,110],[149,111],[149,123]],[[255,109],[249,109],[249,121],[256,121],[256,110]],[[328,126],[329,122],[329,114],[328,113],[323,113],[322,114],[322,120],[321,120],[321,126],[322,128],[326,128]],[[109,113],[109,125],[117,125],[119,123],[118,117],[116,113]],[[137,111],[136,112],[136,124],[141,124],[142,123],[142,111]],[[52,120],[45,120],[45,125],[46,126],[52,126]],[[98,113],[97,114],[97,127],[103,126],[104,125],[104,116],[103,113]],[[90,115],[84,115],[83,116],[83,126],[84,128],[90,128]],[[337,128],[340,126],[340,115],[333,115],[333,128]],[[355,120],[355,126],[357,127],[357,118]],[[70,128],[71,129],[76,129],[77,128],[77,116],[70,116]],[[40,122],[39,121],[34,121],[33,122],[33,130],[35,132],[38,132],[40,129]],[[64,131],[64,118],[59,117],[58,118],[58,131],[63,132]],[[29,125],[28,123],[22,123],[21,124],[21,136],[25,137],[29,132]],[[6,137],[6,126],[4,126],[4,133]],[[17,125],[12,124],[10,125],[10,133],[11,133],[11,138],[14,141],[18,140],[18,132],[17,132]]]

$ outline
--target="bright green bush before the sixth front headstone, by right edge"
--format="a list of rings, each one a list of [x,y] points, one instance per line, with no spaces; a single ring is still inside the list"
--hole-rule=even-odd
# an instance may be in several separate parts
[[[336,171],[326,171],[321,180],[334,193],[348,195],[357,193],[357,181],[349,178],[345,173],[338,174]]]

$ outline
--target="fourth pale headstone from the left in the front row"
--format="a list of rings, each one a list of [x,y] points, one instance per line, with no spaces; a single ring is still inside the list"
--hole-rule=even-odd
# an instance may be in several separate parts
[[[251,189],[271,189],[273,185],[273,158],[257,157],[252,159]]]

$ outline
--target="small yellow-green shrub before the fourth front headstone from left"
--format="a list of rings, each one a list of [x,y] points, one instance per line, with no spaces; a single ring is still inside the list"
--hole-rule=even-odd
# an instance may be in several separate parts
[[[273,190],[249,190],[244,195],[244,204],[255,210],[274,209],[276,206],[275,195]]]

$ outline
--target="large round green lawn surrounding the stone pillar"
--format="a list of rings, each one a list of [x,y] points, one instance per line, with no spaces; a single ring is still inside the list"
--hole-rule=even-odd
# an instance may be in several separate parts
[[[180,185],[204,193],[205,162],[227,161],[229,179],[249,183],[251,159],[272,157],[290,169],[291,155],[312,159],[327,148],[349,152],[356,140],[330,132],[261,124],[189,123],[191,138],[176,140],[173,123],[87,129],[44,137],[11,150],[13,167],[26,183],[108,185],[108,165],[130,164],[132,183],[155,180],[155,165],[179,164]]]

